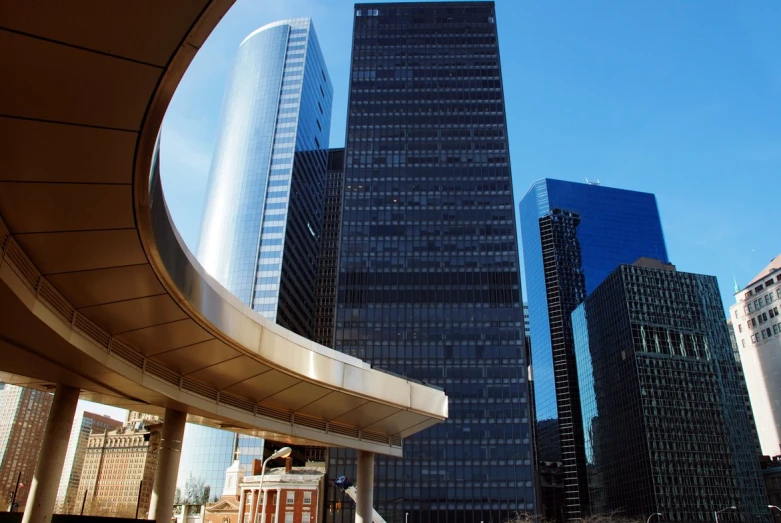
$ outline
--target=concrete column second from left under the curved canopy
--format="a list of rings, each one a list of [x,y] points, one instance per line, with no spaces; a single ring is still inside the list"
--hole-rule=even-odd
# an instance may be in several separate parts
[[[165,409],[155,484],[152,487],[152,501],[149,503],[149,515],[154,517],[157,523],[170,523],[173,515],[176,476],[179,474],[186,420],[187,414],[184,412]]]

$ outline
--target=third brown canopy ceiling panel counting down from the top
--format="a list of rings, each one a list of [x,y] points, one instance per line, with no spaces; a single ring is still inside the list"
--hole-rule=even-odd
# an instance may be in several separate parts
[[[135,132],[0,117],[0,136],[0,181],[132,182]]]

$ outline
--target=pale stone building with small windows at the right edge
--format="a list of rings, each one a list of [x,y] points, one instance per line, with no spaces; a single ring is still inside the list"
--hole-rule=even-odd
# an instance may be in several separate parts
[[[730,307],[762,453],[781,454],[781,254],[743,289]]]

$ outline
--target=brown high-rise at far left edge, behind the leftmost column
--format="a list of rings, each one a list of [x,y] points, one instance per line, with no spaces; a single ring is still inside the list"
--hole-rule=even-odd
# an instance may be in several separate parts
[[[24,510],[52,395],[5,385],[0,389],[0,507]],[[17,487],[18,481],[18,487]],[[15,494],[14,494],[15,492]]]

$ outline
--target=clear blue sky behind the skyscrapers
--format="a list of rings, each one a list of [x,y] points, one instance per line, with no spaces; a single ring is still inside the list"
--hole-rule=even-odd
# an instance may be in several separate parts
[[[163,125],[163,185],[191,249],[229,66],[254,29],[314,20],[344,144],[352,2],[238,0]],[[671,261],[748,280],[781,252],[781,2],[497,0],[516,203],[538,178],[657,195]],[[516,210],[517,211],[517,210]]]

